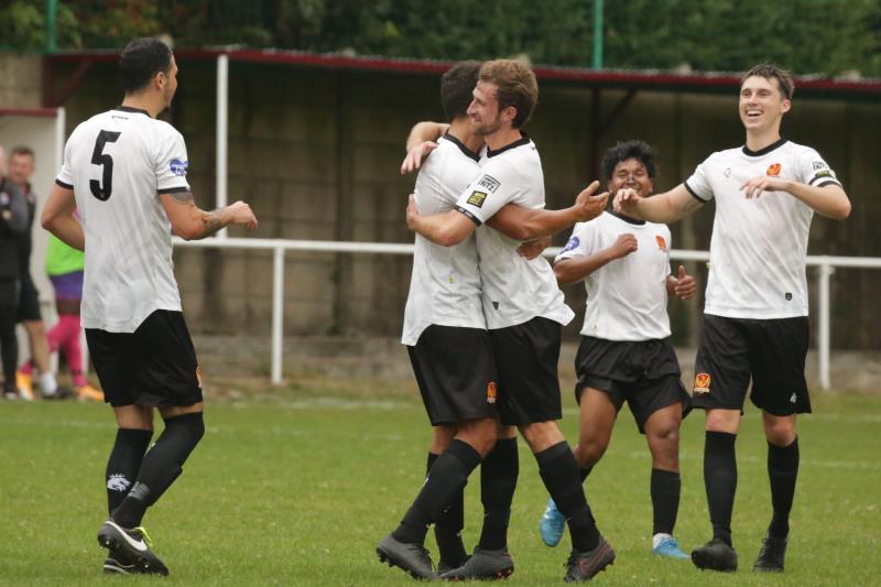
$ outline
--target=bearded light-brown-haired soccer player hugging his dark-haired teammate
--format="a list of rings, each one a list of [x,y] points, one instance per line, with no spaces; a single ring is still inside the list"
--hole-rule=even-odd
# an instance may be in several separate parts
[[[573,318],[553,270],[527,261],[520,244],[478,227],[505,204],[544,207],[544,177],[535,144],[520,128],[537,100],[534,74],[510,59],[485,63],[468,108],[471,129],[487,143],[479,175],[447,213],[407,208],[407,225],[433,242],[456,244],[477,231],[482,305],[499,368],[499,411],[530,445],[542,480],[564,512],[573,540],[567,580],[587,580],[614,559],[600,536],[578,478],[578,465],[556,425],[562,415],[557,359],[562,325]],[[596,187],[596,186],[594,186]],[[605,207],[607,194],[591,196]]]

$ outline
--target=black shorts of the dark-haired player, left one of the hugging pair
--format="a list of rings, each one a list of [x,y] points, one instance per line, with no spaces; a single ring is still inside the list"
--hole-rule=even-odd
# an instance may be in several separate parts
[[[406,350],[433,426],[496,417],[499,376],[486,330],[433,324]]]

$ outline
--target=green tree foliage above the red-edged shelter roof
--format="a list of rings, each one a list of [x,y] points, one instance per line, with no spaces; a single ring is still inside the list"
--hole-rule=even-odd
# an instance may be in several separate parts
[[[45,0],[0,8],[0,44],[41,48]],[[591,0],[58,0],[58,47],[119,47],[168,33],[178,46],[244,45],[460,59],[525,54],[588,66]],[[881,0],[607,0],[605,67],[881,76]]]

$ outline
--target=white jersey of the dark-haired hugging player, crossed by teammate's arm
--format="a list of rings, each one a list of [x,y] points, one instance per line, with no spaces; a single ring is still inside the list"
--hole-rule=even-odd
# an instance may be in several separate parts
[[[414,192],[420,214],[453,209],[459,195],[480,171],[478,161],[478,155],[455,137],[443,137],[416,177]],[[432,324],[487,327],[480,305],[480,273],[474,235],[454,247],[442,247],[416,235],[401,343],[414,346],[422,331]]]

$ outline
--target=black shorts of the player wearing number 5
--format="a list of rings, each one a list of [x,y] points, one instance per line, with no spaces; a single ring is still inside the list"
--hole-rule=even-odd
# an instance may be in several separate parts
[[[133,333],[86,328],[86,341],[110,405],[170,407],[202,401],[196,350],[183,313],[157,309]]]

